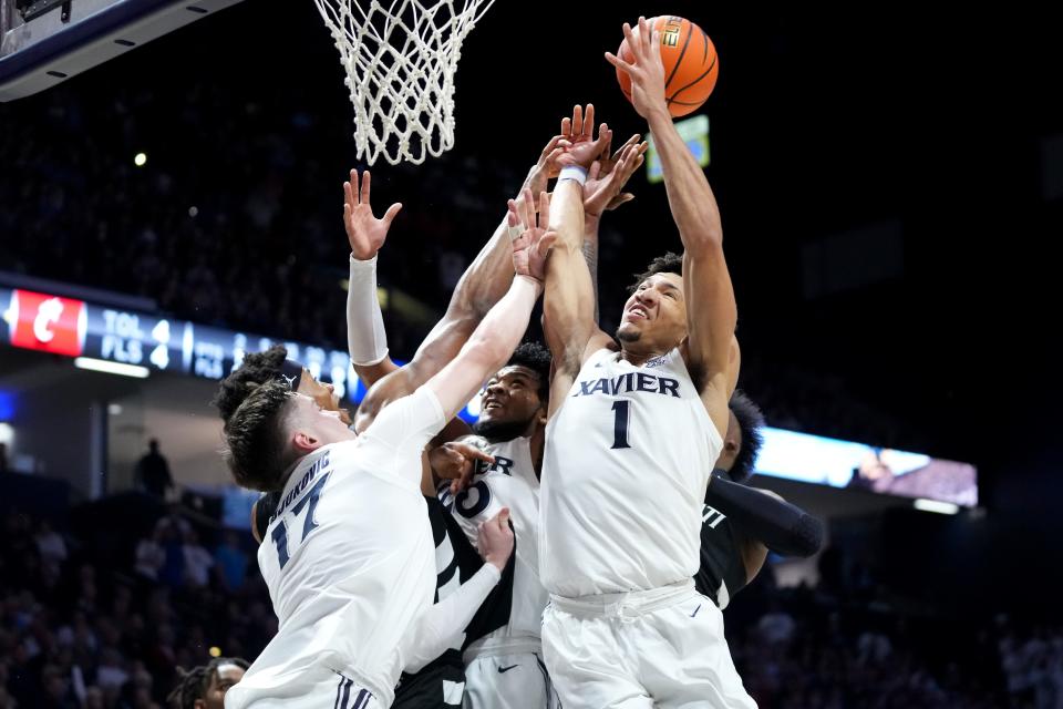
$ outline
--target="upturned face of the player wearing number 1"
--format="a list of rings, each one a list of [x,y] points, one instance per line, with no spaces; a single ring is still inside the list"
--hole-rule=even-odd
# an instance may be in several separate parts
[[[639,284],[623,305],[617,338],[621,342],[639,342],[650,349],[671,349],[685,337],[683,277],[679,274],[654,274]]]

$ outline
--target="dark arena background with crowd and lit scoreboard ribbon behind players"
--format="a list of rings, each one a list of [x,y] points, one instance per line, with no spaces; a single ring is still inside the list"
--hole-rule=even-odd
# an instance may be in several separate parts
[[[0,28],[30,4],[4,0]],[[725,609],[746,689],[764,708],[1063,706],[1047,17],[497,0],[462,50],[454,148],[372,168],[378,214],[404,205],[379,261],[392,354],[413,356],[574,104],[621,142],[644,131],[602,53],[659,13],[720,53],[694,115],[739,386],[771,427],[752,484],[827,530]],[[277,620],[255,495],[219,455],[217,380],[283,342],[347,405],[363,393],[341,185],[365,165],[337,50],[309,0],[206,14],[31,95],[0,89],[0,708],[162,707],[177,668],[254,660]],[[681,249],[663,184],[643,168],[628,188],[602,219],[607,331],[631,275]],[[69,341],[34,339],[45,301]],[[149,440],[162,497],[143,484]],[[868,456],[888,481],[861,480]]]

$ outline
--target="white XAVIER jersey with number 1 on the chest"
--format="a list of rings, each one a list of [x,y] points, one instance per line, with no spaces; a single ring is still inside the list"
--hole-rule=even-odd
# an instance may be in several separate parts
[[[602,349],[546,429],[540,575],[566,597],[698,573],[701,510],[723,440],[679,349],[642,367]]]

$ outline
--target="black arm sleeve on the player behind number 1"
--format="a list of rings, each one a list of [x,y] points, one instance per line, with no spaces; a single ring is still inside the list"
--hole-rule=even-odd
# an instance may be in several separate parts
[[[812,556],[823,545],[823,522],[801,507],[712,474],[705,504],[744,534],[783,556]]]

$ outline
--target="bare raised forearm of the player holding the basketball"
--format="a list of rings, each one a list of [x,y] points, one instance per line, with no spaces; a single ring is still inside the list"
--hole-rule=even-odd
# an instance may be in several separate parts
[[[650,131],[661,160],[664,189],[683,247],[696,254],[719,248],[723,239],[720,209],[704,171],[680,137],[667,110],[649,119]]]

